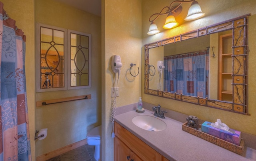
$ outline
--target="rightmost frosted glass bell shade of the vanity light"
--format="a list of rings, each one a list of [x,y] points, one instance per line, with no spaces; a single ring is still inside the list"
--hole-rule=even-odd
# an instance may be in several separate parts
[[[201,7],[197,1],[194,1],[188,9],[188,16],[185,21],[192,21],[204,17],[205,13],[202,12]]]

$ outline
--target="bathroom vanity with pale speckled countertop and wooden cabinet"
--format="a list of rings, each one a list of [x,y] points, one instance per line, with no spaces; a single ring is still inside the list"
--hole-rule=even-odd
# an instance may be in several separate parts
[[[246,147],[243,155],[182,131],[182,122],[169,117],[161,131],[149,131],[136,126],[132,119],[137,115],[154,116],[154,111],[135,110],[116,115],[114,138],[115,161],[198,161],[198,160],[255,160],[256,150]],[[155,119],[155,118],[154,118]]]

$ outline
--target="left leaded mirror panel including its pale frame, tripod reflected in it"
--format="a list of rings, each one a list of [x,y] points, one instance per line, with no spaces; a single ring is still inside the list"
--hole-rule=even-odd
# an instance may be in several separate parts
[[[36,91],[56,91],[67,89],[65,78],[67,64],[67,30],[37,24],[36,39]],[[66,73],[66,74],[65,74]],[[40,81],[38,81],[40,80]]]

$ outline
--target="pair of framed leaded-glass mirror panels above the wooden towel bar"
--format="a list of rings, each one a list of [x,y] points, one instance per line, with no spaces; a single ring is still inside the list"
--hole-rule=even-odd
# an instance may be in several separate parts
[[[36,91],[90,87],[91,35],[37,24]]]

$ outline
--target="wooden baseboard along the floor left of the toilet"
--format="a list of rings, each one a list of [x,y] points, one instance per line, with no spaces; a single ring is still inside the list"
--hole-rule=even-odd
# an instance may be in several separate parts
[[[46,153],[44,155],[40,155],[40,156],[36,157],[36,161],[46,161],[48,159],[51,159],[53,157],[57,157],[58,155],[61,155],[63,153],[66,153],[70,150],[76,149],[76,148],[78,148],[82,145],[86,145],[86,144],[87,144],[87,139],[78,141],[76,143],[73,143],[73,144],[67,145],[65,147],[62,147],[60,149],[56,149],[54,151]]]

